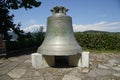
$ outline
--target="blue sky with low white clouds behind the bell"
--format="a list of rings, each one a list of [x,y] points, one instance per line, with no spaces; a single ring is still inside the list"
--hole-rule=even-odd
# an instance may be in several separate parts
[[[21,23],[21,29],[34,31],[40,25],[45,26],[50,9],[65,6],[72,17],[74,31],[101,30],[120,32],[120,0],[39,0],[38,8],[31,10],[11,10],[15,23]],[[44,28],[44,29],[45,29]]]

